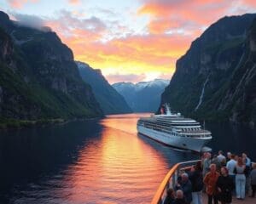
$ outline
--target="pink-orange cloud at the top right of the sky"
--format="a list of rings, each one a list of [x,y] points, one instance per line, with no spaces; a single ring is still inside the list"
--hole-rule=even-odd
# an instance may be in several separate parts
[[[137,14],[149,14],[148,31],[163,33],[173,29],[201,29],[222,17],[230,8],[229,1],[223,0],[145,0]]]

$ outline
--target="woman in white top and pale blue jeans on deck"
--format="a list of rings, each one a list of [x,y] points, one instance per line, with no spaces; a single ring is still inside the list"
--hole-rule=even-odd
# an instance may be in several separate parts
[[[245,198],[245,185],[246,185],[246,176],[244,174],[245,164],[242,161],[241,157],[238,157],[237,164],[235,167],[236,172],[236,198],[243,200]]]

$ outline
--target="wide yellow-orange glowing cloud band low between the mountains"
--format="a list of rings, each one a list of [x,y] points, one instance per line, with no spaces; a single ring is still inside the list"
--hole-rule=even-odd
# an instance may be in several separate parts
[[[101,68],[104,74],[119,72],[165,73],[171,75],[175,70],[176,59],[189,47],[191,39],[181,36],[148,35],[113,39],[109,42],[76,42],[76,38],[62,37],[71,48],[76,59]],[[158,76],[157,76],[158,75]]]

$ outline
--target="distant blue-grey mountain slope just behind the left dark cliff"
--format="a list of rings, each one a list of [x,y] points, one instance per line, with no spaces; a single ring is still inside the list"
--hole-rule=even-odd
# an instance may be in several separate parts
[[[84,82],[90,84],[96,100],[105,114],[131,113],[131,108],[121,96],[102,76],[101,70],[95,70],[85,63],[76,62],[79,73]]]

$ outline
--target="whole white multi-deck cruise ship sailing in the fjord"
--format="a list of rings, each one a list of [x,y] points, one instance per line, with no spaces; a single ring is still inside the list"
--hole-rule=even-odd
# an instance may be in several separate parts
[[[169,105],[161,108],[160,115],[141,117],[137,121],[137,132],[160,143],[197,152],[212,139],[212,133],[199,122],[172,113]]]

